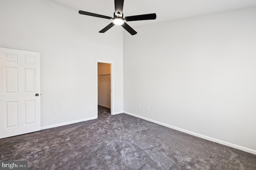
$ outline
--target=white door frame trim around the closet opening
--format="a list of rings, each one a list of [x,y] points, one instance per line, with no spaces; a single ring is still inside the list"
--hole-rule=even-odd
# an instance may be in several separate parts
[[[110,64],[110,114],[113,115],[113,70],[114,62],[112,61],[103,61],[96,59],[96,115],[98,118],[98,63]]]

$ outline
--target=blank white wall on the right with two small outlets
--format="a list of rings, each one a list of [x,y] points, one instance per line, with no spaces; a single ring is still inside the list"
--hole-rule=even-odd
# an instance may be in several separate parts
[[[256,154],[255,18],[254,7],[124,32],[124,111]]]

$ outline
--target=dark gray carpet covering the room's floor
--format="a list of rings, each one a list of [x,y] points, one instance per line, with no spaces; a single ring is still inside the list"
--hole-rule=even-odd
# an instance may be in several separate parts
[[[256,170],[256,155],[99,106],[98,119],[0,139],[30,170]]]

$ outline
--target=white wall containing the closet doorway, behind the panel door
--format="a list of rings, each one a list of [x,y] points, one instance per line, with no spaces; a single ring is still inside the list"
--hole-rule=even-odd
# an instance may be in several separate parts
[[[96,59],[115,63],[112,109],[123,111],[122,28],[100,34],[109,20],[48,0],[1,0],[0,24],[0,47],[41,53],[42,127],[96,117]]]

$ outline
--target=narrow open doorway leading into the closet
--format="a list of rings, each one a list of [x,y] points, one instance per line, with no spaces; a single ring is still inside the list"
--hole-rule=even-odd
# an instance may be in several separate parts
[[[110,109],[112,115],[112,63],[97,61],[97,117],[98,108]]]

